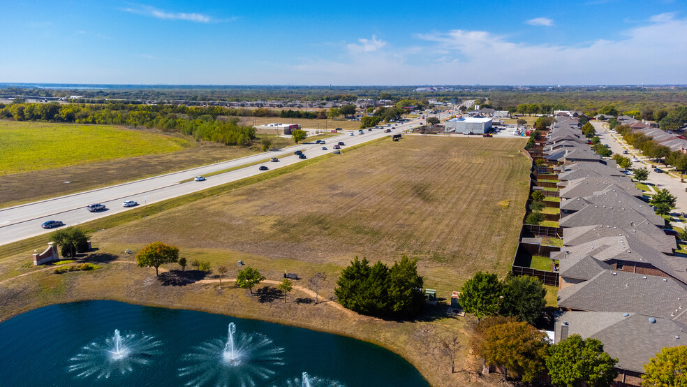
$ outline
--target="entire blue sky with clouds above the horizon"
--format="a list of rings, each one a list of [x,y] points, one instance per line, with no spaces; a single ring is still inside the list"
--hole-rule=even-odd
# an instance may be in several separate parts
[[[8,1],[0,82],[687,84],[684,1]]]

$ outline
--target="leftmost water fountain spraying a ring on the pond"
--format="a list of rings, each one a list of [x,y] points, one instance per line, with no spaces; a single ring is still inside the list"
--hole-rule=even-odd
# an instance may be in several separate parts
[[[161,342],[143,333],[127,333],[122,336],[118,329],[112,337],[97,339],[84,346],[82,351],[69,359],[69,372],[76,377],[95,376],[96,379],[109,378],[112,373],[126,374],[135,367],[147,365],[158,354]]]

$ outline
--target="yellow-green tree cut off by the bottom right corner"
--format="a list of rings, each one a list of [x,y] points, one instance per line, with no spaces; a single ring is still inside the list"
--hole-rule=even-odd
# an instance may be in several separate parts
[[[687,386],[687,346],[666,347],[644,365],[642,386]]]

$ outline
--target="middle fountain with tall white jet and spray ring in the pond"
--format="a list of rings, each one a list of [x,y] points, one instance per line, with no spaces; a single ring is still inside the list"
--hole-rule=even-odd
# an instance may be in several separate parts
[[[213,339],[193,349],[182,356],[187,365],[179,368],[186,386],[256,386],[256,379],[274,375],[273,365],[283,364],[279,356],[283,348],[260,333],[237,335],[235,323],[229,324],[226,341]]]

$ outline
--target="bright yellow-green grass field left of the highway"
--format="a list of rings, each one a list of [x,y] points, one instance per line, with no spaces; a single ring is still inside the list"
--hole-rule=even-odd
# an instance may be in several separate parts
[[[0,121],[0,175],[175,152],[191,145],[184,138],[112,125]]]

